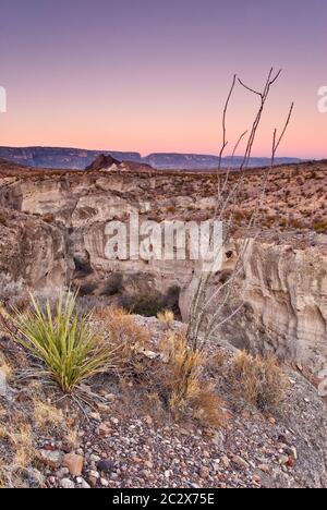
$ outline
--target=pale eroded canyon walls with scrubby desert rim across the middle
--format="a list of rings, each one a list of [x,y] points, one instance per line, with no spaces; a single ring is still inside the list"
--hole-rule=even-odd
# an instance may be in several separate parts
[[[2,170],[1,170],[2,169]],[[92,295],[106,294],[112,275],[122,275],[121,292],[179,289],[184,321],[198,281],[190,260],[109,260],[106,224],[128,222],[130,212],[165,221],[213,217],[217,175],[156,172],[128,163],[101,170],[36,171],[0,165],[0,271],[33,289],[75,284]],[[231,174],[231,182],[237,179]],[[261,170],[246,172],[239,204],[239,228],[223,254],[222,271],[233,267],[246,215],[256,201]],[[253,352],[275,352],[314,377],[327,363],[327,231],[324,220],[327,165],[291,165],[268,180],[244,258],[237,318],[219,340]],[[215,284],[215,283],[213,283]]]

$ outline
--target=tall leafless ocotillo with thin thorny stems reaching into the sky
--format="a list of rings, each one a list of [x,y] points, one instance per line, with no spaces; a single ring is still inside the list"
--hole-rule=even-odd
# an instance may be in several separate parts
[[[266,102],[270,93],[270,88],[277,82],[280,74],[281,74],[281,70],[278,71],[278,73],[274,75],[274,69],[271,68],[262,92],[255,90],[254,88],[247,86],[246,84],[244,84],[243,81],[238,78],[237,75],[233,76],[232,84],[231,84],[231,87],[230,87],[230,90],[229,90],[229,94],[225,104],[223,112],[222,112],[222,144],[221,144],[221,149],[219,153],[219,162],[218,162],[218,171],[217,171],[218,186],[217,186],[215,219],[219,219],[220,221],[223,222],[222,246],[220,250],[225,250],[226,244],[231,241],[231,232],[232,232],[232,227],[234,224],[235,206],[239,203],[240,194],[244,184],[245,169],[247,168],[249,162],[250,162],[250,158],[251,158],[252,150],[253,150],[253,145],[254,145],[256,134],[261,124],[262,116],[263,116],[263,112],[264,112],[264,109],[265,109],[265,106],[266,106]],[[258,107],[257,113],[255,116],[254,122],[250,131],[242,163],[238,170],[237,182],[235,184],[231,186],[229,192],[226,193],[229,186],[231,172],[233,171],[233,174],[235,174],[235,170],[232,170],[231,165],[230,165],[230,167],[225,173],[223,184],[222,186],[220,186],[222,155],[223,155],[226,147],[228,146],[227,113],[228,113],[228,108],[230,105],[232,94],[237,85],[237,81],[244,89],[259,97],[259,107]],[[235,289],[238,286],[238,279],[243,271],[244,258],[246,257],[251,242],[254,242],[257,236],[257,234],[256,235],[251,234],[251,231],[256,226],[258,211],[261,209],[263,199],[266,194],[269,175],[275,165],[276,154],[284,137],[287,129],[289,126],[291,116],[293,112],[293,107],[294,105],[292,104],[290,107],[284,126],[279,137],[277,135],[277,129],[275,129],[274,131],[270,167],[268,167],[267,170],[263,173],[262,184],[261,184],[259,193],[257,196],[257,201],[256,201],[254,210],[250,217],[250,220],[247,222],[245,234],[244,234],[244,241],[242,243],[241,250],[239,250],[239,253],[237,254],[232,275],[230,276],[229,279],[227,279],[227,281],[222,282],[216,289],[214,289],[214,291],[211,292],[211,295],[209,296],[208,294],[214,287],[213,279],[216,277],[216,272],[210,272],[210,271],[202,272],[199,276],[199,281],[198,281],[194,298],[190,306],[190,317],[189,317],[189,328],[187,328],[187,340],[189,340],[190,347],[194,350],[203,349],[204,344],[206,343],[206,340],[209,340],[209,338],[223,324],[232,319],[242,309],[243,304],[239,305],[234,311],[229,312],[227,315],[221,317],[223,308],[228,304],[232,294],[235,292]],[[240,135],[239,139],[237,141],[237,144],[234,145],[231,159],[234,158],[234,155],[241,142],[243,141],[243,138],[246,136],[247,133],[249,131],[245,131],[244,133]],[[229,215],[227,216],[228,211],[229,211]],[[215,301],[217,299],[219,299],[218,306],[210,316],[210,306],[215,304]],[[201,340],[201,338],[203,340]]]

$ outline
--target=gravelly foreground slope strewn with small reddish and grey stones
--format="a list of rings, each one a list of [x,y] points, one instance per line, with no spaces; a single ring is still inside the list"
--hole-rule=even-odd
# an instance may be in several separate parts
[[[148,352],[156,355],[167,325],[133,319],[150,331]],[[181,328],[179,323],[169,326]],[[314,387],[287,371],[281,404],[264,415],[233,398],[228,364],[235,350],[217,342],[207,348],[213,360],[208,382],[216,386],[228,415],[220,428],[187,416],[175,422],[156,400],[146,400],[133,379],[120,384],[106,375],[84,384],[84,398],[93,406],[83,402],[83,408],[48,385],[40,390],[35,380],[10,380],[0,393],[0,429],[3,423],[5,430],[12,424],[21,427],[25,442],[22,435],[15,442],[0,435],[0,483],[27,488],[326,487],[326,410]],[[0,352],[15,369],[21,367],[24,353],[5,338]],[[19,476],[15,448],[24,462]]]

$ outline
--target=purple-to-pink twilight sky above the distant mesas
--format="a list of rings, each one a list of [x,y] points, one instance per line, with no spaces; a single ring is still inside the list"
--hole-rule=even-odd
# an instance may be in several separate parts
[[[217,154],[233,74],[274,66],[253,155],[294,101],[279,156],[327,157],[326,21],[326,0],[0,0],[0,145]],[[235,89],[227,154],[257,106]]]

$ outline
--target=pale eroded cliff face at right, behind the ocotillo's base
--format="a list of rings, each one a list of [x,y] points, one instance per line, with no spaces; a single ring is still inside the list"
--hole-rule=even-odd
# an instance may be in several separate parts
[[[233,246],[238,252],[238,243]],[[225,269],[232,260],[225,263]],[[318,374],[327,362],[327,248],[294,247],[252,241],[244,259],[232,308],[245,306],[217,333],[238,348],[257,353],[274,352],[300,369]],[[198,278],[181,294],[187,317],[189,303]]]

